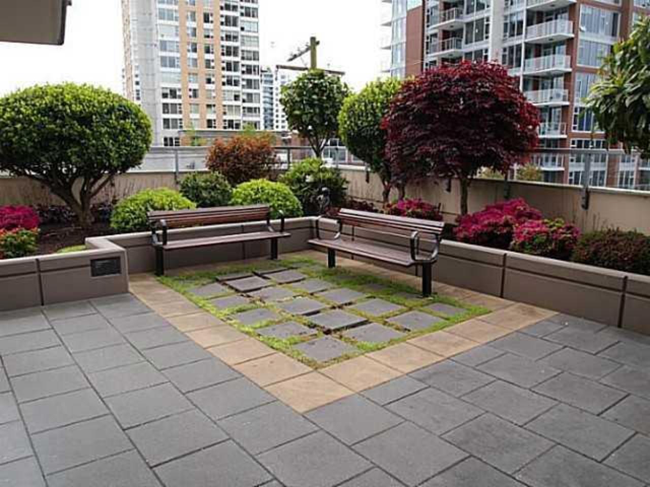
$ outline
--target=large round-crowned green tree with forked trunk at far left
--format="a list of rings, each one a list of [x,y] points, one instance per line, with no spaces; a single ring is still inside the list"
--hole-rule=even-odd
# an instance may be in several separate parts
[[[86,228],[92,198],[150,144],[148,116],[103,88],[34,86],[0,99],[0,171],[47,186]]]

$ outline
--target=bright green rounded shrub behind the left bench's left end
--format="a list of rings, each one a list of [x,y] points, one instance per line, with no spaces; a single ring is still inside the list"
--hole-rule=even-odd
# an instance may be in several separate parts
[[[147,213],[155,210],[190,210],[196,205],[169,188],[144,190],[118,203],[110,217],[110,227],[118,232],[141,232],[149,229]]]

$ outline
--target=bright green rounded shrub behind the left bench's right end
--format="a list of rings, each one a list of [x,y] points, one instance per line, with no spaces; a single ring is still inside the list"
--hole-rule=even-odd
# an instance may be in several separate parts
[[[268,205],[271,208],[271,218],[278,218],[280,212],[285,217],[302,216],[302,206],[289,186],[282,182],[271,182],[266,179],[253,179],[242,182],[233,191],[231,205]]]

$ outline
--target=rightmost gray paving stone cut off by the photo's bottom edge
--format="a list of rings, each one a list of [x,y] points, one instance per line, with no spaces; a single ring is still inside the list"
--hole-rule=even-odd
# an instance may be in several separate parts
[[[534,460],[516,477],[532,487],[642,487],[641,482],[561,446]]]

